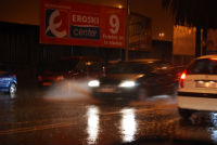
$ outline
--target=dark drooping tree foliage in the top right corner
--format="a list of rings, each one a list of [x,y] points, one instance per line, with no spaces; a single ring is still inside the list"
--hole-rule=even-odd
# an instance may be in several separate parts
[[[197,28],[217,28],[217,0],[162,0],[176,24]]]

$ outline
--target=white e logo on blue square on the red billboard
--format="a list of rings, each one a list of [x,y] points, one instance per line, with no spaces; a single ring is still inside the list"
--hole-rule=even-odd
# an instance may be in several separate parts
[[[46,35],[58,38],[67,37],[67,31],[63,26],[63,18],[59,10],[48,9],[46,11]]]

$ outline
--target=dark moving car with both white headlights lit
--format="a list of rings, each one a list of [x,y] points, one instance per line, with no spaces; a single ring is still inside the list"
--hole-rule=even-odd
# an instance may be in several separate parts
[[[90,80],[88,85],[97,98],[145,98],[165,90],[173,94],[177,79],[170,63],[143,58],[112,64],[105,76]]]

